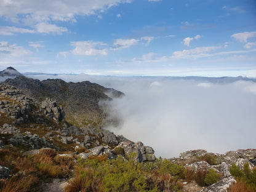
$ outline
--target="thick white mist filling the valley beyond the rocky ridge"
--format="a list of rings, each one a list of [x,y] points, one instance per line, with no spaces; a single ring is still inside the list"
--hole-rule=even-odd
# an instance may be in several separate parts
[[[152,146],[156,156],[172,158],[187,150],[213,153],[255,148],[256,83],[209,79],[118,78],[104,76],[30,76],[91,81],[124,92],[106,103],[105,127],[115,134]]]

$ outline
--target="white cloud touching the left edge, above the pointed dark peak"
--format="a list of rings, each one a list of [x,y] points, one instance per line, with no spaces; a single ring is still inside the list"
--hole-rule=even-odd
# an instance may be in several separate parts
[[[26,50],[21,46],[16,44],[9,44],[9,42],[0,42],[0,55],[9,55],[11,57],[21,57],[24,55],[29,55],[30,50]]]

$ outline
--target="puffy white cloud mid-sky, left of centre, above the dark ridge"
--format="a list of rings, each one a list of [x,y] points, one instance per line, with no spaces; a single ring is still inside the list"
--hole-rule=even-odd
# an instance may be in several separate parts
[[[74,55],[107,55],[108,50],[105,48],[107,44],[95,41],[74,41],[71,46],[75,48],[71,50]],[[62,52],[62,54],[66,52]],[[63,54],[63,55],[65,55]]]

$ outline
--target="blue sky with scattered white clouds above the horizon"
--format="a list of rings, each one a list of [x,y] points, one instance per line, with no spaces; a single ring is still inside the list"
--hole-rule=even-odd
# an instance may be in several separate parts
[[[254,0],[0,0],[0,70],[256,77]]]

